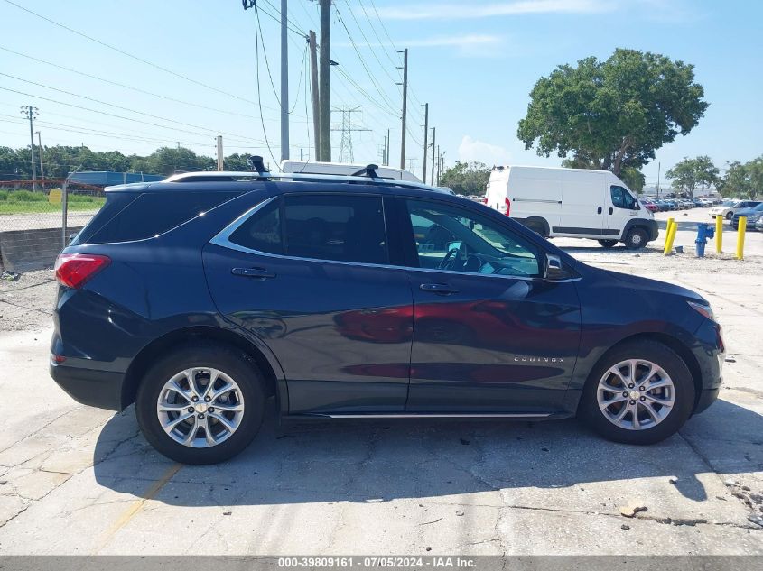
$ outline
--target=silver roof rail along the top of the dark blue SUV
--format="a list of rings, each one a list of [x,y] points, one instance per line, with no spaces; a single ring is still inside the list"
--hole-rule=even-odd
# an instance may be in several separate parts
[[[379,186],[405,187],[407,189],[432,190],[434,192],[446,193],[442,189],[437,189],[423,182],[414,182],[412,180],[382,179],[379,178],[376,170],[368,165],[359,172],[366,172],[366,176],[346,176],[335,174],[300,174],[296,172],[270,173],[235,171],[235,170],[202,170],[200,172],[183,172],[175,174],[163,180],[163,182],[252,182],[255,180],[296,180],[305,182],[354,182],[362,184],[373,184]],[[369,173],[369,170],[373,174]],[[376,175],[376,176],[375,176]],[[447,194],[447,193],[446,193]]]

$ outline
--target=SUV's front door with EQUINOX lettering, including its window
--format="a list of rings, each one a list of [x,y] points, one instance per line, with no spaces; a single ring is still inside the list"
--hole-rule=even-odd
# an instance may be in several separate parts
[[[414,294],[405,410],[560,409],[581,335],[574,281],[544,280],[544,252],[499,216],[442,200],[398,204]]]

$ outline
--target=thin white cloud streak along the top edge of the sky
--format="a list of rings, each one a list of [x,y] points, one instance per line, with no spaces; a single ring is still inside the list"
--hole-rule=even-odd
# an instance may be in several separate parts
[[[418,4],[405,7],[379,7],[386,20],[464,20],[519,14],[594,14],[609,12],[616,7],[614,0],[515,0],[483,5]]]

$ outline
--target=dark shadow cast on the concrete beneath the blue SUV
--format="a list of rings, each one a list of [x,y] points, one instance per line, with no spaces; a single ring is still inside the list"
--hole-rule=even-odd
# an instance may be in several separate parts
[[[103,428],[94,471],[98,484],[118,493],[184,506],[386,502],[618,481],[633,488],[626,482],[648,486],[641,479],[670,476],[685,498],[702,502],[708,493],[698,474],[763,469],[761,440],[763,417],[728,401],[690,419],[680,436],[649,447],[608,442],[575,420],[281,426],[271,414],[233,460],[178,470],[137,435],[131,407]],[[163,478],[169,483],[155,493]]]

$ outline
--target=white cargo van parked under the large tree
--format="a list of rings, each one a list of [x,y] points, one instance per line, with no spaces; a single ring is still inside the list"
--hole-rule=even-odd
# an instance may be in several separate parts
[[[628,249],[656,240],[657,223],[608,170],[493,167],[485,203],[544,237],[599,240]]]

